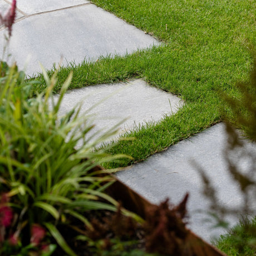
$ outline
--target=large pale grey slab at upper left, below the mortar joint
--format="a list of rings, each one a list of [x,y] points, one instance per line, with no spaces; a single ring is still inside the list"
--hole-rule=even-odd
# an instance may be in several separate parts
[[[0,41],[3,31],[0,31]],[[67,61],[96,60],[101,55],[125,55],[159,42],[93,4],[22,19],[13,26],[12,57],[28,75]],[[0,48],[0,54],[2,55]],[[29,58],[28,58],[29,57]]]

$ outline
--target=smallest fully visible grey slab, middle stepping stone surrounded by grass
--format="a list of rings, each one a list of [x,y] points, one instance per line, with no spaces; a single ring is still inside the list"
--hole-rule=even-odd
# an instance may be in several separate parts
[[[165,115],[174,114],[183,105],[183,101],[177,96],[149,86],[141,79],[68,91],[63,97],[60,116],[73,109],[79,102],[82,102],[80,115],[90,115],[91,122],[95,124],[89,135],[101,129],[111,129],[126,119],[124,124],[119,125],[121,134],[139,124],[157,122]],[[88,112],[97,102],[101,103]]]

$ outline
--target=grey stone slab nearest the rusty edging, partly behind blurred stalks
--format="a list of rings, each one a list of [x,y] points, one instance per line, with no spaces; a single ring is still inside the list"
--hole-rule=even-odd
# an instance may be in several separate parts
[[[189,140],[180,141],[167,151],[149,157],[143,163],[116,173],[116,176],[153,203],[159,203],[168,197],[172,203],[177,204],[188,191],[189,227],[200,237],[210,241],[211,238],[224,233],[224,230],[210,229],[212,223],[204,221],[209,215],[198,212],[206,211],[209,203],[201,194],[202,181],[191,161],[195,160],[209,176],[222,203],[227,206],[239,206],[243,203],[243,197],[227,171],[223,154],[226,144],[224,124],[218,124]],[[248,142],[246,146],[256,156],[256,144]],[[240,168],[247,169],[248,159],[240,158],[237,152],[234,154],[234,160],[238,159]],[[251,204],[255,203],[253,199]],[[237,218],[229,216],[228,220],[234,225],[239,217],[238,212]]]

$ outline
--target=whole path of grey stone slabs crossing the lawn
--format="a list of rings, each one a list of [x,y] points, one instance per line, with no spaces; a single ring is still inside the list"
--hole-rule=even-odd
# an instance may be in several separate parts
[[[0,9],[6,10],[10,3],[10,0],[0,0]],[[3,35],[3,27],[0,27],[1,42]],[[160,42],[90,1],[18,0],[9,61],[15,60],[19,68],[24,67],[26,73],[32,76],[41,71],[39,62],[46,68],[52,68],[53,63],[57,66],[61,57],[63,65],[66,65],[66,61],[80,63],[84,58],[93,61],[102,55],[125,55],[152,45],[160,45]],[[2,48],[0,54],[2,56]],[[93,102],[90,102],[90,97],[87,97],[83,101],[83,111],[102,97],[113,94],[94,110],[99,113],[96,129],[105,125],[111,127],[126,117],[130,119],[120,129],[131,129],[134,122],[139,124],[160,120],[163,115],[170,115],[171,111],[175,112],[183,105],[170,93],[152,88],[142,80],[134,80],[127,84],[96,85],[70,91],[65,96],[62,113],[90,93],[95,93],[97,99],[93,96]],[[201,180],[191,160],[195,160],[210,176],[221,201],[228,205],[241,204],[243,198],[226,172],[227,165],[223,159],[226,140],[224,125],[218,124],[116,175],[154,203],[167,196],[173,203],[178,203],[189,191],[190,228],[201,238],[210,241],[212,235],[219,235],[223,230],[209,229],[209,223],[203,222],[206,215],[196,212],[207,210],[208,201],[201,196]],[[248,142],[247,146],[256,154],[255,144]],[[246,159],[241,159],[241,163],[243,168],[248,165]],[[233,224],[237,221],[229,220]]]

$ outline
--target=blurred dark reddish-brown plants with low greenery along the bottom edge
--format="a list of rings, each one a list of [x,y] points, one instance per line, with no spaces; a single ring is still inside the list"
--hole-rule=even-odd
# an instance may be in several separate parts
[[[93,255],[99,256],[201,255],[191,247],[190,232],[186,229],[188,196],[176,206],[169,199],[159,205],[141,205],[145,207],[142,224],[122,215],[119,208],[114,215],[92,219],[93,230],[85,230],[86,236],[79,239],[88,243]]]

